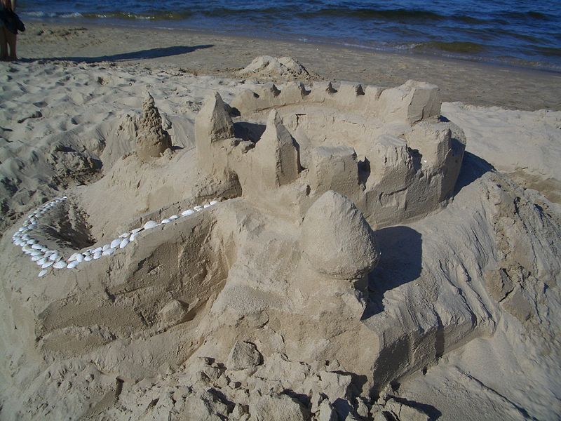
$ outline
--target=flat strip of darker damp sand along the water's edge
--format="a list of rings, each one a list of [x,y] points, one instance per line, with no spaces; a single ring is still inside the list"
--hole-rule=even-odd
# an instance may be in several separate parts
[[[304,41],[262,39],[194,29],[60,25],[29,21],[18,37],[23,60],[109,61],[178,67],[239,79],[236,70],[258,55],[291,56],[327,80],[396,86],[435,83],[442,100],[507,109],[561,109],[561,74],[548,70],[401,54]]]

